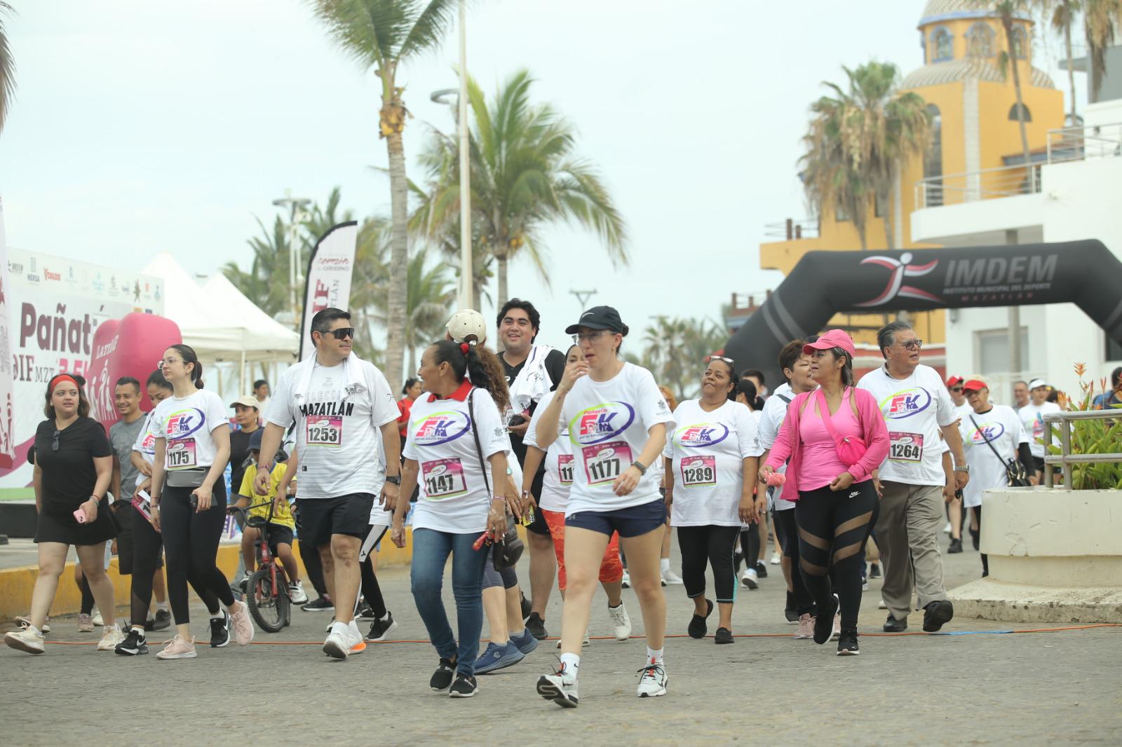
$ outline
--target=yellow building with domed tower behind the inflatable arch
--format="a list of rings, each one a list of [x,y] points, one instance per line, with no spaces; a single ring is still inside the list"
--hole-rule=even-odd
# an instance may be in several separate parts
[[[992,4],[987,0],[929,0],[923,9],[919,21],[923,66],[903,79],[901,90],[912,91],[928,102],[934,145],[926,157],[917,156],[900,169],[891,204],[885,206],[891,218],[891,242],[880,211],[870,210],[870,250],[931,247],[911,241],[913,210],[1018,194],[1039,185],[1038,179],[1030,181],[1034,175],[1017,167],[1024,163],[1017,94],[1012,67],[1006,66],[1004,74],[1001,68],[1000,55],[1009,46]],[[1046,73],[1032,66],[1032,26],[1028,15],[1014,20],[1013,56],[1027,109],[1029,148],[1036,162],[1048,146],[1048,130],[1064,127],[1064,94]],[[817,224],[817,237],[789,236],[784,241],[760,245],[760,266],[790,273],[807,251],[861,249],[852,221],[839,220],[833,210],[824,208]],[[946,341],[946,312],[910,316],[920,338]],[[856,342],[875,344],[875,330],[884,322],[884,314],[837,314],[830,326],[848,329]]]

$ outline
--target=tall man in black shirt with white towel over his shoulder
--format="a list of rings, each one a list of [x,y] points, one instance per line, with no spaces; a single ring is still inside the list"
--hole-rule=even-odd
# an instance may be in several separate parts
[[[518,464],[525,463],[526,446],[522,439],[530,426],[530,416],[542,396],[554,389],[564,375],[564,353],[549,345],[535,345],[534,339],[541,324],[541,315],[528,301],[512,298],[499,310],[495,320],[498,328],[503,353],[499,359],[506,371],[506,385],[511,388],[511,409],[506,413],[511,445]],[[545,477],[544,462],[534,474],[532,492],[534,500],[541,496]],[[532,599],[526,628],[541,640],[546,636],[545,603],[553,589],[557,575],[557,559],[553,541],[545,518],[540,510],[534,511],[533,523],[526,527],[530,546],[530,593]]]

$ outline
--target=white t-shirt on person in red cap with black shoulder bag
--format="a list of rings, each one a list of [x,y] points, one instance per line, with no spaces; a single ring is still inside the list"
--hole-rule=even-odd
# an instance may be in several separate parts
[[[1018,444],[1028,443],[1029,436],[1024,433],[1021,418],[1008,405],[994,405],[981,415],[971,409],[958,430],[963,434],[966,463],[971,465],[969,482],[963,488],[963,505],[973,508],[982,505],[983,491],[1009,485],[1005,460],[1015,460]],[[986,441],[993,444],[1001,459],[986,445]]]

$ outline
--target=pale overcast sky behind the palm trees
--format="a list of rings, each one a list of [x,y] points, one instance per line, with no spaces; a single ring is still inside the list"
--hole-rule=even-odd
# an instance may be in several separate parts
[[[389,213],[379,87],[333,48],[301,0],[11,0],[19,89],[0,137],[8,241],[30,251],[190,271],[248,265],[272,200]],[[468,67],[485,91],[519,67],[537,101],[577,126],[627,220],[631,266],[595,236],[548,234],[550,286],[515,260],[511,293],[537,303],[561,344],[596,289],[637,332],[656,314],[719,319],[734,292],[774,287],[764,227],[806,216],[795,177],[811,101],[840,65],[920,66],[922,0],[478,0]],[[1039,46],[1039,45],[1038,45]],[[1038,54],[1057,65],[1058,47]],[[454,33],[399,74],[415,119],[450,130],[433,90],[456,85]],[[1066,77],[1054,77],[1066,87]],[[1083,76],[1078,83],[1083,85]],[[414,168],[413,176],[420,176]],[[285,278],[278,278],[284,282]],[[484,312],[490,316],[491,308]]]

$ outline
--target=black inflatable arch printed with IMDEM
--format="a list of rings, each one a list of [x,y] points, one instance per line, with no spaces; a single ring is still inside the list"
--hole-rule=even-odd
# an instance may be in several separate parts
[[[738,369],[776,358],[836,313],[1074,303],[1122,344],[1122,262],[1097,240],[895,251],[808,251],[732,336]],[[774,385],[772,385],[774,387]]]

